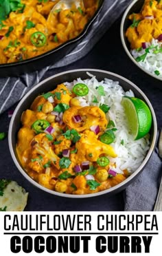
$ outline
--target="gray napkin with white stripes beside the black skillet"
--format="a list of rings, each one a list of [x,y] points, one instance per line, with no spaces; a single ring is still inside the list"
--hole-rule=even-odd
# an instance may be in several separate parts
[[[54,65],[45,67],[39,72],[25,74],[19,78],[0,78],[0,114],[14,105],[14,103],[18,102],[43,78],[47,70],[55,70],[56,67],[66,67],[68,64],[85,56],[93,48],[95,43],[102,38],[106,30],[108,30],[119,15],[122,14],[130,2],[131,0],[106,0],[102,11],[97,19],[95,19],[87,36],[82,39],[82,42],[72,52]]]

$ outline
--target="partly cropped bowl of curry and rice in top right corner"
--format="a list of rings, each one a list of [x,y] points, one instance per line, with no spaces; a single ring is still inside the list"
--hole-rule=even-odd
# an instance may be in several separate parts
[[[126,54],[143,72],[162,80],[162,1],[134,0],[122,18]]]

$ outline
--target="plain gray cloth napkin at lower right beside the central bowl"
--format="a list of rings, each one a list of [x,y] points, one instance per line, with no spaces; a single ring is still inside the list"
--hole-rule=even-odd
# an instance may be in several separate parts
[[[146,168],[137,177],[137,180],[126,189],[124,211],[153,210],[159,189],[161,171],[161,159],[158,153],[154,151]]]

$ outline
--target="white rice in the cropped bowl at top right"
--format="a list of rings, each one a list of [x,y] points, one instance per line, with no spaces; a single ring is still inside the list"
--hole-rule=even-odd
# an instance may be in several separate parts
[[[148,72],[162,77],[162,52],[157,53],[157,50],[162,47],[162,42],[159,42],[157,39],[152,39],[151,43],[146,44],[148,46],[147,48],[149,49],[149,52],[146,49],[142,49],[140,51],[132,50],[131,54],[136,59],[137,57],[146,54],[147,52],[144,61],[138,62],[139,65]]]

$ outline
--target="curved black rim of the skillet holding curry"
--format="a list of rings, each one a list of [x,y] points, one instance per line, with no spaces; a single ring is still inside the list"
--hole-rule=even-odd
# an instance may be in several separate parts
[[[84,37],[86,32],[89,30],[89,27],[91,26],[93,21],[95,21],[95,19],[97,19],[98,14],[100,13],[100,11],[102,10],[102,7],[104,6],[104,1],[105,0],[100,0],[100,2],[99,2],[100,5],[97,8],[97,10],[95,11],[95,13],[93,14],[93,17],[91,17],[89,22],[86,23],[86,25],[84,26],[84,29],[82,30],[82,32],[80,34],[78,34],[78,36],[76,36],[73,39],[70,39],[68,41],[65,41],[64,43],[62,43],[61,45],[58,45],[54,49],[51,49],[47,52],[44,52],[43,54],[39,54],[38,56],[34,56],[32,58],[27,58],[26,60],[23,60],[23,61],[0,64],[0,69],[3,69],[5,67],[19,67],[20,65],[25,65],[27,63],[32,63],[34,61],[40,61],[43,57],[50,56],[51,54],[54,54],[55,52],[58,52],[59,50],[62,50],[62,48],[67,47],[67,45],[71,45],[73,43],[76,43],[76,42],[80,41]]]

